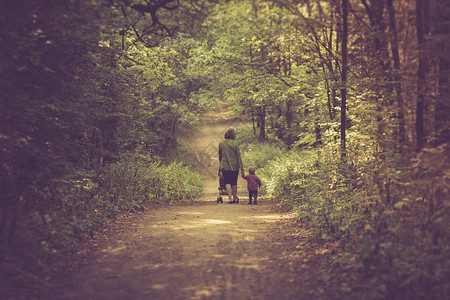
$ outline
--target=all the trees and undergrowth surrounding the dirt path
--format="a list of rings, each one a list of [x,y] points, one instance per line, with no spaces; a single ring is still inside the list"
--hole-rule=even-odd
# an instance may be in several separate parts
[[[200,194],[182,137],[220,100],[336,264],[379,298],[450,293],[448,1],[1,4],[2,283]]]

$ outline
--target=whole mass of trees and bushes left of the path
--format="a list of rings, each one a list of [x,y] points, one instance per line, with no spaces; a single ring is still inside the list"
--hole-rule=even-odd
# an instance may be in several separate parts
[[[186,35],[136,39],[134,21],[147,34],[162,28],[102,1],[1,3],[0,276],[8,285],[38,278],[117,213],[201,193],[199,175],[174,156],[208,103],[191,97],[205,80],[188,68],[199,43]],[[176,12],[184,24],[186,12]],[[147,38],[159,45],[145,47]]]

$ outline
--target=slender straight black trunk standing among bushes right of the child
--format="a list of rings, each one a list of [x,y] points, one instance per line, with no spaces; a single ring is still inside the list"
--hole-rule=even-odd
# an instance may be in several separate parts
[[[342,0],[342,73],[341,73],[341,158],[347,155],[346,123],[347,123],[347,38],[348,38],[347,0]]]

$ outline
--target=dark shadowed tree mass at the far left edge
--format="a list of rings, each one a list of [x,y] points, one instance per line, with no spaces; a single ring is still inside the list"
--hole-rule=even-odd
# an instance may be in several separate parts
[[[98,49],[99,31],[92,21],[93,4],[2,4],[8,11],[1,19],[2,40],[8,46],[1,50],[0,78],[4,250],[13,243],[21,219],[32,212],[43,216],[61,200],[58,182],[86,154],[81,112],[89,104],[83,92],[89,90],[85,74],[94,68],[90,53]]]

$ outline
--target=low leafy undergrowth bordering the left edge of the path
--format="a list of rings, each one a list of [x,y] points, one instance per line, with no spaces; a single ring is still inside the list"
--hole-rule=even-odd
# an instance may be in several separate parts
[[[82,240],[119,213],[191,199],[202,191],[201,176],[183,163],[163,164],[137,154],[125,155],[95,173],[64,178],[53,187],[51,207],[18,212],[26,215],[14,224],[14,239],[1,243],[0,287],[39,282],[54,261],[76,251]]]

